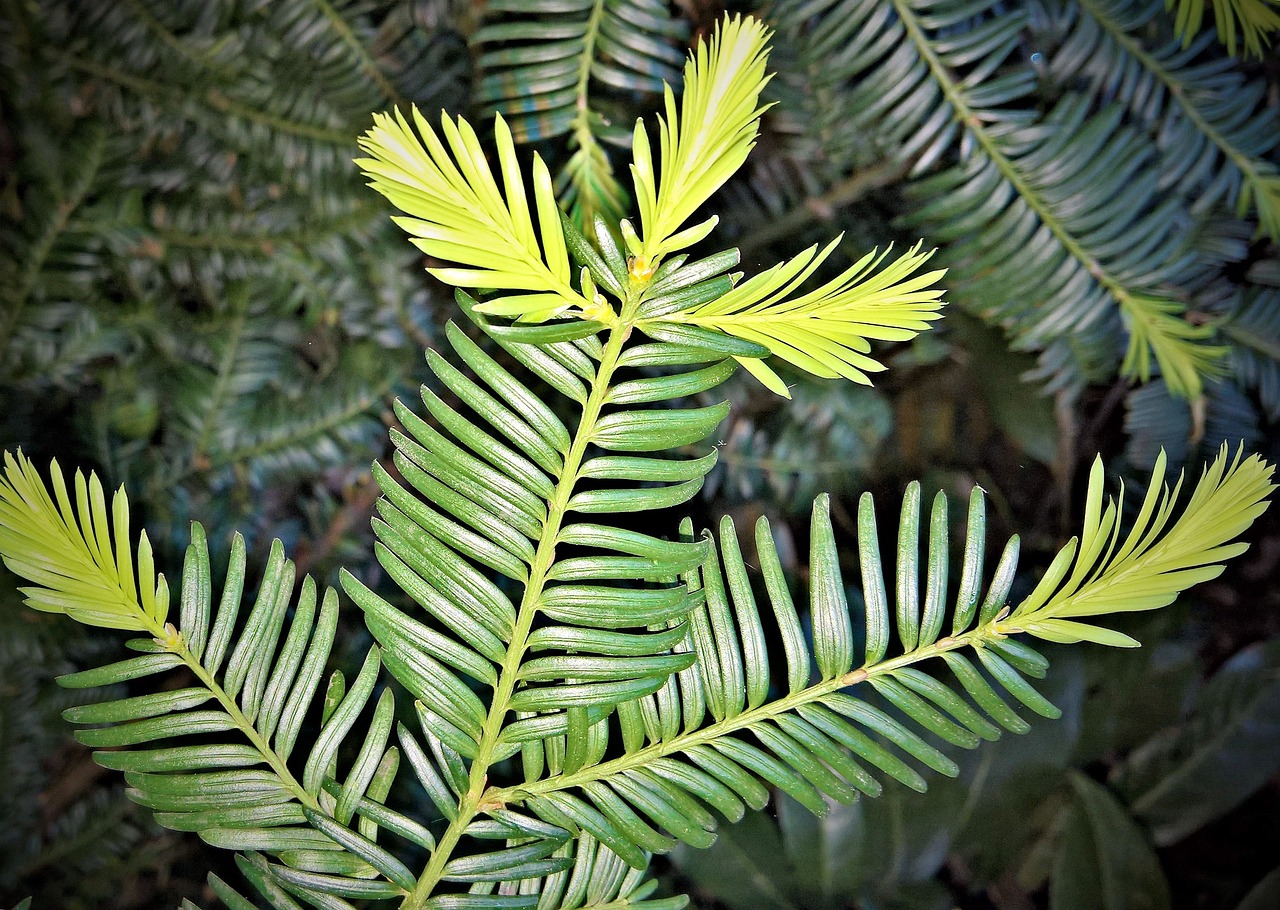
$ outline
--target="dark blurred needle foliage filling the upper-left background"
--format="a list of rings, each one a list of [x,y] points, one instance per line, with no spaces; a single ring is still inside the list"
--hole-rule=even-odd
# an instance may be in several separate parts
[[[407,4],[0,23],[0,383],[42,430],[6,410],[6,444],[93,458],[166,553],[192,509],[215,538],[321,536],[433,324],[351,148],[371,109],[452,102],[465,46]]]

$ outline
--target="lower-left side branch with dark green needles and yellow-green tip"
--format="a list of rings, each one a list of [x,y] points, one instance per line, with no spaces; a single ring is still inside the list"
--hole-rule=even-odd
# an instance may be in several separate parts
[[[168,591],[154,573],[145,536],[137,572],[132,568],[123,494],[109,521],[96,476],[77,476],[74,508],[56,465],[51,485],[52,495],[29,461],[6,456],[0,553],[13,571],[40,585],[27,590],[28,603],[151,635],[132,643],[140,657],[59,682],[104,686],[179,667],[195,676],[182,689],[64,712],[74,723],[108,724],[77,733],[81,742],[109,750],[96,751],[95,759],[123,770],[129,796],[154,809],[160,824],[198,832],[214,846],[276,858],[283,865],[273,865],[270,874],[285,891],[323,900],[412,890],[412,874],[375,842],[381,826],[422,847],[434,845],[425,828],[380,805],[398,765],[397,750],[387,749],[390,691],[378,699],[364,737],[353,744],[351,765],[338,770],[338,751],[356,740],[352,731],[378,682],[376,648],[349,687],[342,673],[329,680],[303,768],[294,773],[289,765],[319,698],[337,631],[337,594],[317,596],[310,577],[294,593],[293,563],[276,541],[255,603],[242,614],[246,552],[237,538],[215,608],[205,534],[192,525],[175,627],[166,622]]]

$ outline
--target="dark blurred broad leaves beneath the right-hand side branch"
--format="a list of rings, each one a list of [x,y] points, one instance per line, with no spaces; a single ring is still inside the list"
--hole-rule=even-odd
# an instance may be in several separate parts
[[[1180,622],[1149,617],[1143,637]],[[934,777],[928,794],[886,790],[826,818],[783,797],[712,849],[681,849],[678,869],[741,910],[941,906],[988,888],[997,906],[1044,895],[1053,910],[1169,907],[1179,870],[1169,864],[1166,881],[1152,842],[1172,845],[1265,786],[1280,764],[1280,728],[1275,640],[1242,651],[1199,692],[1192,643],[1166,639],[1162,649],[1050,646],[1046,687],[1062,722],[959,755],[957,778]],[[1135,689],[1151,696],[1135,704]],[[1265,850],[1260,859],[1270,863]],[[960,865],[961,881],[937,881]],[[1257,881],[1240,873],[1215,869],[1215,904],[1234,907]]]

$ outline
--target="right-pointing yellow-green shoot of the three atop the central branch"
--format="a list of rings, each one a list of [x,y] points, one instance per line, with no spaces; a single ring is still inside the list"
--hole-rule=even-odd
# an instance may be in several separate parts
[[[941,316],[942,289],[934,283],[945,270],[916,274],[933,255],[922,253],[919,244],[882,269],[888,250],[879,255],[873,250],[822,287],[788,297],[838,243],[837,237],[820,252],[810,247],[714,301],[664,319],[755,342],[815,376],[869,384],[867,374],[884,369],[868,356],[870,340],[908,340],[929,328]],[[739,357],[739,362],[767,388],[790,397],[764,361]]]

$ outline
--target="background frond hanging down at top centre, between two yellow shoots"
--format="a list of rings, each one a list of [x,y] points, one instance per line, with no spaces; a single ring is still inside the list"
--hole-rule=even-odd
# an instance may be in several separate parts
[[[517,142],[568,134],[573,148],[558,177],[561,205],[580,230],[595,216],[617,227],[630,198],[605,146],[630,145],[628,99],[680,84],[687,26],[657,0],[485,6],[471,36],[480,69],[475,104],[506,118]]]

